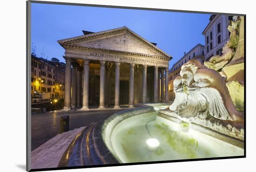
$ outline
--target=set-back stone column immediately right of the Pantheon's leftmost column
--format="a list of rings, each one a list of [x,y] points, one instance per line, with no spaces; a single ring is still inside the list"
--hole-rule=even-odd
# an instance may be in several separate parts
[[[72,73],[72,99],[71,105],[73,108],[77,108],[77,68],[76,62],[73,63],[73,73]]]

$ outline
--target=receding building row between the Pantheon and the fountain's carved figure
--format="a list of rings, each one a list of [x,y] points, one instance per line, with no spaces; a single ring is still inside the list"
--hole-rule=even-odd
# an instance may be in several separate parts
[[[169,70],[168,76],[168,94],[169,99],[172,100],[175,98],[174,87],[173,87],[173,80],[180,76],[181,67],[184,63],[187,63],[189,60],[198,60],[202,64],[205,60],[204,56],[205,47],[201,44],[197,44],[194,48],[192,48],[188,53],[184,53],[184,56],[177,61],[172,68]]]

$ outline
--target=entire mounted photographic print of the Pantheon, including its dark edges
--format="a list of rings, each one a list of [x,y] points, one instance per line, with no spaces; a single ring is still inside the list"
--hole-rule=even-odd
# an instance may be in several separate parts
[[[27,1],[27,171],[245,157],[245,15]]]

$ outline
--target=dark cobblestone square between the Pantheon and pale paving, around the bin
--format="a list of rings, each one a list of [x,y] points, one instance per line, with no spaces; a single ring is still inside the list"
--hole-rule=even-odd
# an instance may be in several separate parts
[[[121,109],[122,110],[122,109]],[[60,131],[60,117],[69,115],[69,129],[74,130],[81,126],[88,126],[94,121],[102,119],[108,115],[121,110],[108,111],[71,111],[71,112],[46,112],[40,114],[32,114],[32,128],[31,128],[31,150],[41,146],[49,139],[52,139]]]

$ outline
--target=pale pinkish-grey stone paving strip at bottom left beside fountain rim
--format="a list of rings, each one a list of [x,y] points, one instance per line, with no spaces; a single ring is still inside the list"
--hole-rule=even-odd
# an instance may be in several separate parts
[[[32,169],[57,167],[67,147],[84,128],[85,127],[80,127],[72,131],[58,134],[35,149],[31,156]]]

